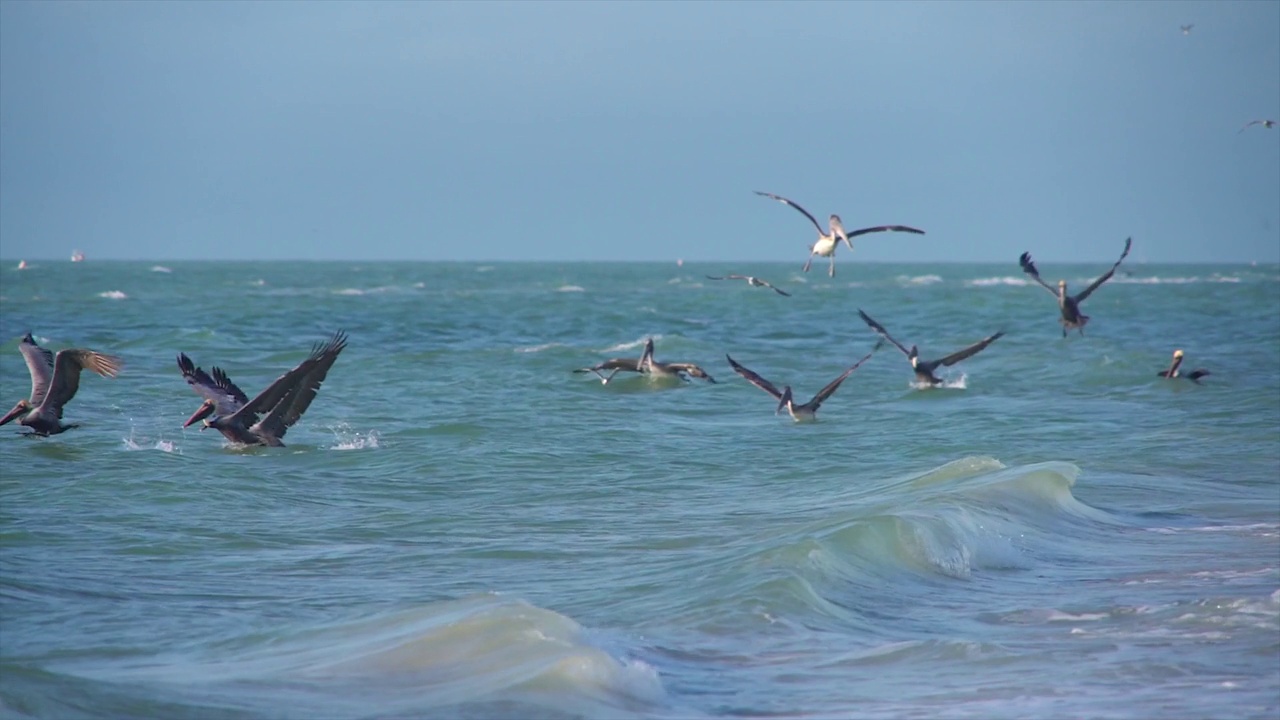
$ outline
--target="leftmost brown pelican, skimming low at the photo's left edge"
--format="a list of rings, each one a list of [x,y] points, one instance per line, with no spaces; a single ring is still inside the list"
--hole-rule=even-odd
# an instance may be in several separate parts
[[[4,418],[0,425],[17,419],[19,425],[32,429],[28,434],[55,436],[77,425],[64,425],[63,407],[76,397],[79,389],[79,372],[90,369],[104,378],[114,378],[120,372],[120,359],[102,355],[92,350],[59,350],[58,355],[36,345],[27,333],[18,343],[18,350],[27,360],[31,373],[31,397],[19,400]]]

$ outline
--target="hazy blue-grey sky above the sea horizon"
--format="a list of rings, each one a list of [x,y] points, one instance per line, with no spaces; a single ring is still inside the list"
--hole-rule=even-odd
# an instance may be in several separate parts
[[[1277,263],[1262,118],[1275,0],[5,0],[0,258]]]

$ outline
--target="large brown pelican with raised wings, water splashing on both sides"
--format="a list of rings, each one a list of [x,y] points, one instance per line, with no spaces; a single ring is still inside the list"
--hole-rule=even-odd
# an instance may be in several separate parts
[[[212,368],[210,375],[186,354],[178,354],[182,377],[205,397],[200,409],[182,427],[205,420],[205,428],[214,428],[236,445],[284,447],[280,438],[315,400],[320,383],[344,347],[347,336],[342,331],[334,333],[328,342],[317,342],[306,360],[276,378],[253,400],[248,400],[244,391],[221,369]],[[265,416],[259,419],[259,415]]]

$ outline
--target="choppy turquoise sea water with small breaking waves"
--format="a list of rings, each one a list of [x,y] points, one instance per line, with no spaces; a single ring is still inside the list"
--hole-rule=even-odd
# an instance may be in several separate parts
[[[0,430],[0,715],[1280,712],[1280,268],[1133,265],[1064,340],[1014,259],[800,264],[4,268],[0,410],[28,329],[125,368]],[[1007,334],[803,424],[724,360],[806,400],[858,307]],[[253,395],[339,328],[288,447],[180,428],[179,351]],[[645,337],[718,382],[571,372]]]

